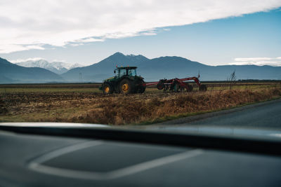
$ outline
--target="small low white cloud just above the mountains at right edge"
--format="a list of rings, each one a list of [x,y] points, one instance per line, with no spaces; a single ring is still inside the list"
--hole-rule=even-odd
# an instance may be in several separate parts
[[[281,67],[281,57],[247,57],[247,58],[235,58],[235,62],[231,65],[256,65],[256,66],[273,66]]]

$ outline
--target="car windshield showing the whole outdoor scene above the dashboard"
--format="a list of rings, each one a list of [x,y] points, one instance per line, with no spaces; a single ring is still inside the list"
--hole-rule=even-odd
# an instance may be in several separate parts
[[[281,137],[280,3],[128,2],[1,3],[0,122]]]

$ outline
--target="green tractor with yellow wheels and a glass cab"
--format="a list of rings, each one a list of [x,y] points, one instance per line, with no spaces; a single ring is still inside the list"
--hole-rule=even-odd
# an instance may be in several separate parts
[[[143,93],[145,82],[143,77],[136,75],[137,67],[117,67],[115,76],[105,79],[100,87],[104,94],[122,93]]]

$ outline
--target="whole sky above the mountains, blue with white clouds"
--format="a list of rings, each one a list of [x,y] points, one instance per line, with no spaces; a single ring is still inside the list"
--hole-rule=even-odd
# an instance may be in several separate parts
[[[84,65],[113,53],[281,66],[281,0],[0,0],[0,57]]]

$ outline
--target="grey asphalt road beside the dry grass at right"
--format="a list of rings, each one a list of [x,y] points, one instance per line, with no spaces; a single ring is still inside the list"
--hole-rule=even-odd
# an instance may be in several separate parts
[[[172,124],[188,126],[277,127],[281,129],[281,99],[237,107],[226,111],[171,120],[159,125]]]

